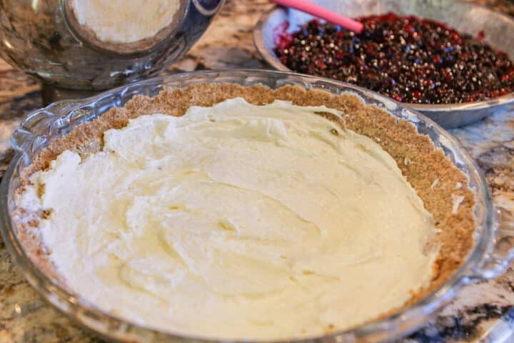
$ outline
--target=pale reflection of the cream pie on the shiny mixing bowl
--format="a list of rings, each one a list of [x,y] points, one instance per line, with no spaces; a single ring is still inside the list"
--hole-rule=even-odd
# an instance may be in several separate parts
[[[112,43],[133,43],[157,34],[178,11],[178,0],[71,0],[79,24],[96,38]]]

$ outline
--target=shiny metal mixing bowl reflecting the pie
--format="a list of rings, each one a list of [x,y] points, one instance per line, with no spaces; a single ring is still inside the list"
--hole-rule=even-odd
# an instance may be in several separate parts
[[[0,55],[44,101],[156,74],[200,38],[223,0],[0,0]]]

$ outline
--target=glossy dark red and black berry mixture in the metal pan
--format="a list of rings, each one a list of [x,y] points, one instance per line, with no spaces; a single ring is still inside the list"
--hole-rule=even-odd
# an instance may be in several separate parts
[[[415,104],[455,104],[514,91],[514,64],[502,51],[448,25],[415,16],[365,16],[361,34],[308,22],[276,33],[275,53],[293,71],[363,86]],[[284,25],[283,29],[287,26]]]

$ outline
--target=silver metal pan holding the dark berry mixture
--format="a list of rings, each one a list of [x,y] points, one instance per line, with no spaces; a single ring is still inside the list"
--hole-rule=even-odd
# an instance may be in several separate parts
[[[486,6],[455,0],[313,0],[317,4],[350,17],[384,14],[415,15],[442,21],[458,31],[485,34],[485,41],[495,49],[505,51],[514,59],[514,18]],[[253,41],[263,58],[273,68],[290,71],[276,58],[273,30],[285,21],[294,30],[313,19],[293,9],[277,7],[264,14],[253,29]],[[514,92],[494,99],[465,104],[405,104],[420,111],[445,129],[471,124],[499,111],[514,109]]]

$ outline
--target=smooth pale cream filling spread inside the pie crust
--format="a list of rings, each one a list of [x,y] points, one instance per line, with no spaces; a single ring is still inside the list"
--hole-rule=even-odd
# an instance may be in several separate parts
[[[57,271],[117,316],[226,339],[346,329],[428,285],[433,220],[381,146],[316,112],[341,116],[243,99],[140,116],[19,204],[49,210]]]

